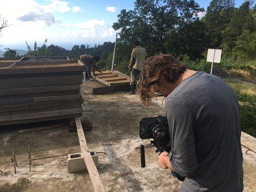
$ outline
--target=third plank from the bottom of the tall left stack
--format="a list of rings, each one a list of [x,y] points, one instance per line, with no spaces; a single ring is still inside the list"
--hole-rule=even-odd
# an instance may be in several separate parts
[[[51,112],[51,111],[59,111],[66,109],[77,109],[82,108],[81,103],[76,103],[72,105],[59,105],[45,108],[30,108],[23,110],[12,110],[12,111],[0,111],[0,116],[10,116],[10,115],[19,115],[19,114],[31,114],[31,113],[39,113],[39,112]]]

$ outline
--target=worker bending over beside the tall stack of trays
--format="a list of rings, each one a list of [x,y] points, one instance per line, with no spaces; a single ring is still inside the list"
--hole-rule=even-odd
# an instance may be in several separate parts
[[[93,70],[93,74],[95,75],[95,69],[97,69],[99,72],[101,72],[98,67],[96,66],[96,63],[99,60],[98,56],[90,56],[90,55],[80,55],[80,60],[85,65],[85,79],[89,78],[90,81],[96,81],[94,78],[92,78],[91,75],[91,67]]]

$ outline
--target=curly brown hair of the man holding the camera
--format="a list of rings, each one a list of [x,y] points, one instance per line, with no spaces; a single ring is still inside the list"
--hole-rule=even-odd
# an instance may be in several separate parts
[[[147,58],[143,63],[138,82],[142,103],[147,106],[151,102],[151,98],[156,93],[156,83],[160,77],[173,84],[186,69],[186,65],[170,54],[159,54]]]

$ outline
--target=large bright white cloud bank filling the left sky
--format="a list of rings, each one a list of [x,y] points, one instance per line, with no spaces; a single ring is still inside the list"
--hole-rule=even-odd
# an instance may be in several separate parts
[[[81,23],[65,23],[61,13],[56,18],[56,12],[69,12],[75,6],[68,7],[67,1],[50,0],[48,4],[38,4],[36,0],[6,0],[0,4],[0,14],[8,20],[11,26],[3,29],[0,36],[2,48],[9,45],[22,44],[28,42],[43,42],[46,38],[49,44],[64,42],[104,42],[114,40],[114,32],[110,25],[104,20],[90,19]],[[13,6],[15,4],[15,6]],[[81,9],[80,9],[81,10]]]

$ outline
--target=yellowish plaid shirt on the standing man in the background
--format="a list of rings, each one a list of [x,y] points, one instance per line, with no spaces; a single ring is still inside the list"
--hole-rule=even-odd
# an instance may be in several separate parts
[[[142,70],[142,64],[145,61],[146,49],[142,48],[141,46],[137,46],[133,49],[132,56],[131,56],[131,62],[133,57],[135,58],[135,63],[133,68],[136,70]],[[130,63],[131,66],[131,63]]]

